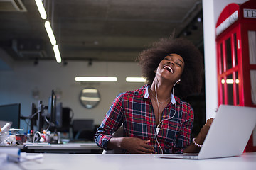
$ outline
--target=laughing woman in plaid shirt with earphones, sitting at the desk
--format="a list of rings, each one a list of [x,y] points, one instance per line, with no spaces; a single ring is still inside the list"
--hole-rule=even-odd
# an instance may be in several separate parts
[[[199,152],[213,119],[191,142],[193,108],[181,98],[201,90],[200,52],[188,40],[163,38],[138,60],[148,84],[114,99],[95,142],[103,149],[121,148],[131,154]],[[122,124],[124,137],[112,137]]]

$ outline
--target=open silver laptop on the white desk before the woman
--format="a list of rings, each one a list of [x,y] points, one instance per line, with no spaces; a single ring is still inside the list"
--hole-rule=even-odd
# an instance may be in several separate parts
[[[256,108],[220,105],[198,154],[162,154],[170,159],[211,159],[242,154],[256,125]]]

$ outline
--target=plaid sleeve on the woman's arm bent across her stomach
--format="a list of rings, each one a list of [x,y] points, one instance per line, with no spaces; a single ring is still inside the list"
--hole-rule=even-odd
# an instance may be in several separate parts
[[[95,142],[99,147],[107,150],[107,143],[112,138],[113,132],[122,125],[122,94],[119,94],[107,111],[104,120],[95,134]]]

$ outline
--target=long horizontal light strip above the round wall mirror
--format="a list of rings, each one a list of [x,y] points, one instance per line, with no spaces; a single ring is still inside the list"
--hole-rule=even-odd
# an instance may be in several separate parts
[[[75,81],[115,82],[117,81],[117,77],[75,77]]]

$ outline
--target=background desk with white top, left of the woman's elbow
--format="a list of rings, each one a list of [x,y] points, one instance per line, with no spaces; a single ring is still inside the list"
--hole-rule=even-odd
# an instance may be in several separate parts
[[[69,154],[87,154],[102,153],[102,148],[95,142],[85,143],[66,143],[66,144],[27,144],[24,146],[25,152],[30,153],[69,153]]]

